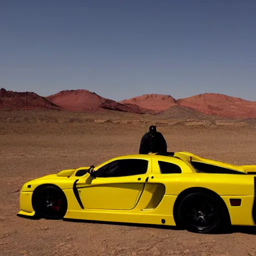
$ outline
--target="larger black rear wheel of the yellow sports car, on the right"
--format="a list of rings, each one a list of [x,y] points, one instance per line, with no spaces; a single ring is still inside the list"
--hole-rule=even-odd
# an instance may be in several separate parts
[[[184,196],[177,207],[179,224],[196,233],[219,232],[225,222],[225,210],[214,194],[192,192]]]

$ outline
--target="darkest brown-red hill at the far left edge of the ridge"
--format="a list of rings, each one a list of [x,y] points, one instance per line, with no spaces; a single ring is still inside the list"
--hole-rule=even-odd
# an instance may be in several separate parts
[[[0,109],[6,110],[34,110],[34,109],[61,109],[49,102],[46,98],[34,92],[16,92],[0,89]]]

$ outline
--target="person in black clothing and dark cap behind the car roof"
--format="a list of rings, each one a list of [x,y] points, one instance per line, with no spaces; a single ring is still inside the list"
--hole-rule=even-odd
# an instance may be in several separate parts
[[[139,154],[166,153],[167,144],[161,132],[156,131],[156,126],[151,125],[140,141]]]

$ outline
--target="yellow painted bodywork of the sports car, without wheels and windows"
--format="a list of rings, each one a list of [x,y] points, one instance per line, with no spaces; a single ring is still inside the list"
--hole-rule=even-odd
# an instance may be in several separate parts
[[[172,156],[134,154],[109,159],[94,167],[95,173],[121,159],[145,159],[147,169],[143,174],[94,178],[86,172],[89,167],[79,167],[30,180],[20,191],[18,214],[33,216],[33,192],[38,186],[52,184],[67,199],[64,218],[176,225],[173,207],[177,197],[188,189],[203,188],[222,198],[231,224],[255,225],[256,165],[236,166],[189,152],[175,152]],[[161,173],[159,161],[179,166],[181,172]],[[223,167],[234,174],[206,173],[196,169],[194,162]],[[82,170],[84,174],[77,175]],[[230,199],[235,198],[241,199],[239,206],[231,206]]]

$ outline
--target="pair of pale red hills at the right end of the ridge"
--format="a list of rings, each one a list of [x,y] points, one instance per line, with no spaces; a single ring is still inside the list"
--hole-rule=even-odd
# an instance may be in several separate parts
[[[256,118],[256,102],[219,93],[203,93],[182,99],[170,95],[144,94],[120,101],[153,111],[165,111],[173,106],[186,106],[208,115],[228,118]]]

